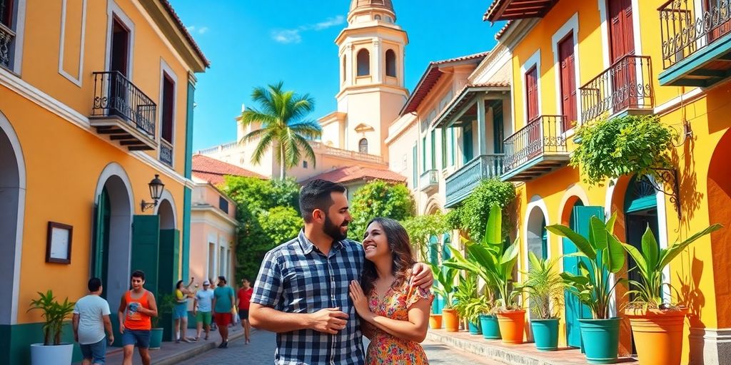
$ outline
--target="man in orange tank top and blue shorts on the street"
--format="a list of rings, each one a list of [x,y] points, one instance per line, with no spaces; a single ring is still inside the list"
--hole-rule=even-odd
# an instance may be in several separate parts
[[[132,272],[130,278],[132,290],[122,296],[119,303],[119,332],[122,334],[124,361],[122,365],[132,365],[132,353],[140,351],[143,365],[150,365],[150,318],[157,317],[155,296],[145,290],[145,273],[141,270]]]

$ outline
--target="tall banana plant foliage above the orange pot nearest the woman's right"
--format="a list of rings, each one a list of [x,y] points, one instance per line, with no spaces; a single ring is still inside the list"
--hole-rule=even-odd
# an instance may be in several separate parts
[[[522,286],[514,285],[512,275],[518,262],[518,239],[506,247],[502,241],[501,228],[502,210],[498,204],[493,204],[482,241],[475,242],[462,237],[469,258],[461,255],[459,250],[452,249],[452,258],[445,261],[444,266],[477,274],[485,280],[488,296],[495,298],[497,310],[507,311],[520,309],[515,299],[522,291]]]

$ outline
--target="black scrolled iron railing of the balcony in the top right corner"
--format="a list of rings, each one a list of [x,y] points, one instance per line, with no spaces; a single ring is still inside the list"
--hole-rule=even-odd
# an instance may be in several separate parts
[[[731,31],[731,0],[669,0],[658,11],[664,69]]]

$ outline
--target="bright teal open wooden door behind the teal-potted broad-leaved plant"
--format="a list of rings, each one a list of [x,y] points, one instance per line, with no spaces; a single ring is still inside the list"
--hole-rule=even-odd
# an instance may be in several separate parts
[[[589,219],[594,215],[603,221],[604,207],[574,207],[569,220],[569,226],[578,234],[588,237]],[[563,246],[564,255],[577,252],[576,246],[567,238],[563,239]],[[564,271],[571,274],[579,274],[578,265],[580,259],[586,260],[586,258],[564,256]],[[576,296],[573,296],[569,291],[564,292],[564,301],[566,303],[567,344],[572,347],[581,347],[579,319],[591,318],[591,311],[586,305],[581,304]]]

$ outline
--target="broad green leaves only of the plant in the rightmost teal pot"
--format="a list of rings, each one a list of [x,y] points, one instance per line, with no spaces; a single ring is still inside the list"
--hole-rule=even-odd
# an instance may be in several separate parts
[[[568,285],[569,292],[591,310],[594,319],[608,319],[612,294],[620,283],[626,279],[619,278],[611,283],[610,274],[616,274],[624,267],[624,249],[619,239],[612,233],[616,213],[607,223],[596,216],[589,220],[588,237],[577,234],[571,228],[561,224],[546,226],[553,234],[568,238],[577,248],[577,253],[567,256],[579,256],[579,274],[562,272],[561,277]],[[586,260],[584,259],[586,258]]]

